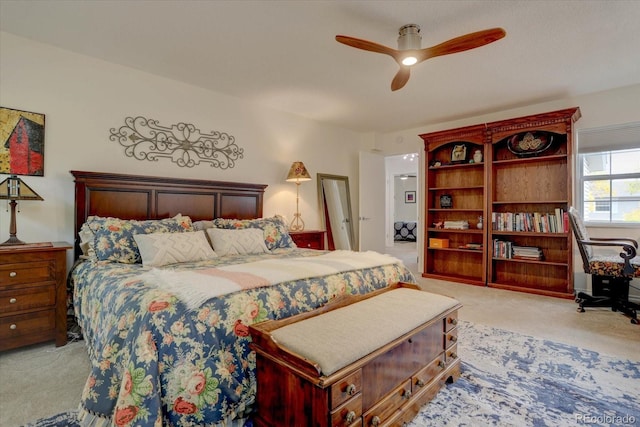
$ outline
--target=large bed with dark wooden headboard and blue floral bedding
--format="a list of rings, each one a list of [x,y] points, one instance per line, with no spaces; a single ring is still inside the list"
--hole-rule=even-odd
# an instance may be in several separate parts
[[[69,284],[91,362],[81,425],[244,425],[248,325],[415,282],[383,254],[295,248],[282,218],[262,217],[265,185],[71,173]]]

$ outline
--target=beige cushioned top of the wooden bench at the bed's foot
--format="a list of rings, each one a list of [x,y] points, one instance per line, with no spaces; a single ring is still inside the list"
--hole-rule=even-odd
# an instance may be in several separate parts
[[[271,336],[331,375],[456,305],[453,298],[399,288],[283,326]]]

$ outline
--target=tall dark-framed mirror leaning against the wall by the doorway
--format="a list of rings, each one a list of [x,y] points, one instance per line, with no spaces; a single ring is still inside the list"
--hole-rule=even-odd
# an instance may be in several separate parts
[[[320,217],[327,230],[329,250],[352,250],[354,245],[349,177],[317,174]]]

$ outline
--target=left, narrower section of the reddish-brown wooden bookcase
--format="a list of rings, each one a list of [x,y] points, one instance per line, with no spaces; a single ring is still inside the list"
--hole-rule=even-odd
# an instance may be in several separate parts
[[[477,226],[487,212],[484,157],[488,141],[484,125],[420,136],[427,153],[424,275],[484,285],[486,233]],[[464,160],[454,161],[454,150],[459,146],[466,148],[466,155]],[[477,150],[483,160],[470,163]],[[451,201],[450,207],[443,198]],[[441,225],[444,221],[467,221],[469,228],[445,229]],[[437,245],[442,241],[448,247]],[[482,245],[482,249],[469,249],[469,244]]]

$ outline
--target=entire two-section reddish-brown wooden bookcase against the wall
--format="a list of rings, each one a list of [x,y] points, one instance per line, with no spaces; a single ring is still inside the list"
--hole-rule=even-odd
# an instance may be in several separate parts
[[[572,204],[573,125],[579,118],[580,110],[570,108],[420,135],[427,154],[423,276],[573,297],[571,232],[556,215]],[[457,145],[467,148],[464,162],[451,160]],[[482,163],[470,163],[476,150]],[[452,207],[439,205],[442,195],[451,196]],[[460,220],[469,229],[434,225]],[[449,247],[434,247],[430,242],[438,241],[430,239]],[[537,248],[541,256],[514,258],[511,249],[501,254],[494,241]],[[467,249],[470,243],[482,247]]]

